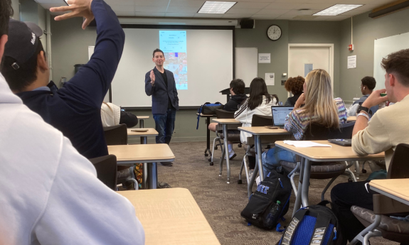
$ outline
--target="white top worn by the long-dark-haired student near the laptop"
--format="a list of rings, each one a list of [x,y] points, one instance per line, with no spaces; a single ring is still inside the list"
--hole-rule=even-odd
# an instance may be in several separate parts
[[[266,97],[263,95],[262,96],[262,103],[260,106],[256,107],[253,110],[250,110],[248,108],[248,99],[245,100],[245,102],[242,104],[242,106],[235,111],[234,113],[234,118],[237,121],[240,121],[243,126],[251,126],[251,120],[253,119],[253,115],[262,115],[262,116],[271,116],[271,107],[277,106],[277,100],[275,97],[272,97],[270,102],[267,103]],[[251,137],[252,135],[249,133],[246,133],[244,131],[240,131],[240,141],[241,143],[247,144],[247,138]]]

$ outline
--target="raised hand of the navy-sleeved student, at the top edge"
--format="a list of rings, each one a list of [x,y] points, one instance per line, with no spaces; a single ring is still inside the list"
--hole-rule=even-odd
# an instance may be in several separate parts
[[[73,17],[84,17],[85,21],[83,23],[83,29],[85,29],[91,21],[94,19],[94,14],[91,11],[92,0],[68,0],[67,4],[69,6],[61,6],[56,8],[51,8],[51,12],[63,12],[71,11],[70,13],[65,13],[61,16],[56,16],[55,21],[62,21]]]

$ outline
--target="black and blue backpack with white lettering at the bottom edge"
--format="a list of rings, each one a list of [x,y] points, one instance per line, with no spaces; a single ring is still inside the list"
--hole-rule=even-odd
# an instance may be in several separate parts
[[[343,238],[334,212],[319,202],[299,209],[277,245],[339,245]]]

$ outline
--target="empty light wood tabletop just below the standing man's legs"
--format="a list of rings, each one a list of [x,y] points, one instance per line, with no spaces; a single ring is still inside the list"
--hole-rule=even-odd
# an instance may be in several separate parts
[[[166,143],[108,146],[108,152],[117,156],[119,164],[171,162],[175,159],[174,153]]]

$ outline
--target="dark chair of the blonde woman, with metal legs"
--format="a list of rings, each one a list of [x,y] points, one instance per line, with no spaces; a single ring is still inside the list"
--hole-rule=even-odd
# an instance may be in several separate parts
[[[355,122],[347,122],[346,124],[339,124],[339,129],[329,129],[319,124],[310,124],[304,134],[304,141],[319,141],[329,138],[352,138],[352,131],[354,130]],[[299,175],[301,163],[290,163],[285,160],[280,161],[283,168],[286,168],[290,172],[290,180],[292,189],[297,196],[297,187],[295,187],[294,177]],[[346,162],[328,162],[328,163],[312,163],[310,178],[324,180],[331,179],[326,185],[321,194],[321,200],[324,200],[324,195],[329,186],[338,178],[339,175],[348,175],[351,180],[356,182],[354,173],[349,170],[353,163],[346,164]]]

